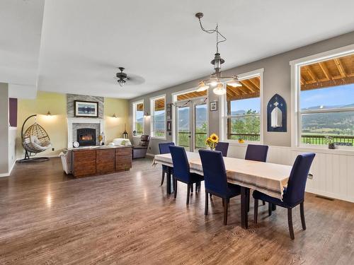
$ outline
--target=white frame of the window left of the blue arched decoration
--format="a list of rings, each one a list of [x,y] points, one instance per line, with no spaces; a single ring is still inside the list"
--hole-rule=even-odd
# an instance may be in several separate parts
[[[249,71],[249,72],[246,72],[246,73],[240,73],[240,74],[237,74],[237,77],[239,78],[240,81],[242,80],[245,80],[245,79],[249,79],[249,78],[253,78],[253,77],[256,77],[256,76],[259,76],[260,78],[260,83],[259,83],[259,98],[260,98],[260,102],[261,102],[261,105],[259,106],[260,107],[260,113],[259,113],[259,119],[260,119],[260,128],[259,128],[259,139],[260,141],[244,141],[244,143],[239,143],[239,141],[237,140],[231,140],[231,139],[227,139],[227,119],[230,118],[230,117],[235,117],[234,115],[227,115],[227,94],[225,93],[225,95],[222,95],[221,98],[220,98],[220,101],[221,101],[221,106],[220,106],[220,135],[221,135],[221,138],[222,138],[222,141],[226,141],[228,143],[231,143],[232,145],[241,145],[241,146],[244,146],[245,144],[248,144],[248,143],[259,143],[259,144],[263,144],[263,137],[264,137],[264,134],[263,134],[263,124],[264,124],[264,121],[263,121],[263,117],[264,117],[264,114],[263,114],[263,72],[264,72],[264,69],[261,68],[261,69],[256,69],[254,71]],[[246,116],[246,115],[244,115]],[[238,116],[240,117],[240,116]]]

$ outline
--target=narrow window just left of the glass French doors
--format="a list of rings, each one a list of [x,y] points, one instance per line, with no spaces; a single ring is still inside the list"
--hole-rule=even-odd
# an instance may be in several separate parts
[[[166,137],[166,98],[152,98],[151,130],[153,137]]]

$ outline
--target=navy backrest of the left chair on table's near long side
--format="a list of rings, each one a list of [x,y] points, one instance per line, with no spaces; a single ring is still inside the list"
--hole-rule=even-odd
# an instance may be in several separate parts
[[[189,182],[190,169],[185,148],[181,146],[169,146],[169,148],[173,163],[173,177]]]

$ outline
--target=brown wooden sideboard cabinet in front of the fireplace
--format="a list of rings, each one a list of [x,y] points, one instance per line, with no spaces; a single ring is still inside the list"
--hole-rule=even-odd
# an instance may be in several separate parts
[[[72,148],[72,175],[85,177],[104,175],[132,168],[132,148],[129,146],[102,146]]]

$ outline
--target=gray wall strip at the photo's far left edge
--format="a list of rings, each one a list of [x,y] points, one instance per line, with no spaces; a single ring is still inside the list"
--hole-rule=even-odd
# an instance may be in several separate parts
[[[8,172],[8,84],[0,83],[0,175]]]

